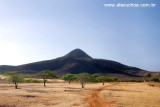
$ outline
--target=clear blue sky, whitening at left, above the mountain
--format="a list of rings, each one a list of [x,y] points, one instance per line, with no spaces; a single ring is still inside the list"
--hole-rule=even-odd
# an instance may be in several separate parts
[[[159,0],[0,0],[0,65],[54,59],[80,48],[94,58],[160,71],[159,5]]]

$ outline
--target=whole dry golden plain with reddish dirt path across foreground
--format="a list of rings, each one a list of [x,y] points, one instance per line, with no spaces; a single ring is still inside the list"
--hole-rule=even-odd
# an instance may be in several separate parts
[[[159,83],[0,84],[0,107],[160,107]]]

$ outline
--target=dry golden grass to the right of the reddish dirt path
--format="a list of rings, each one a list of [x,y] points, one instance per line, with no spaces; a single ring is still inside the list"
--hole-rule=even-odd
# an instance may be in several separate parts
[[[101,94],[108,101],[117,101],[110,107],[160,107],[160,87],[149,84],[120,83]]]

